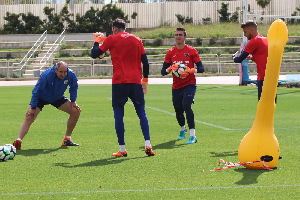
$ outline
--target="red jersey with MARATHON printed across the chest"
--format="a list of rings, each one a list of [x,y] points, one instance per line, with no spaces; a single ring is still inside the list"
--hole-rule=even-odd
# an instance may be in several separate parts
[[[183,49],[177,49],[177,47],[173,47],[169,49],[166,54],[165,62],[171,63],[171,65],[175,63],[182,63],[189,68],[195,68],[195,63],[201,61],[199,58],[198,51],[192,46],[185,45]],[[171,72],[172,73],[172,72]],[[196,84],[195,74],[190,74],[186,78],[178,78],[173,74],[173,87],[172,89],[179,89],[189,84]]]

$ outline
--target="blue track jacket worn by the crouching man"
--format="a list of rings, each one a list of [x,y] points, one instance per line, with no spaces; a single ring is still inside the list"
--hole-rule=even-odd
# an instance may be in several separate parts
[[[73,70],[68,68],[67,76],[61,80],[54,71],[55,66],[56,65],[45,70],[41,74],[35,88],[33,88],[31,98],[32,107],[38,106],[38,99],[49,103],[57,101],[64,95],[68,85],[70,85],[69,92],[71,101],[73,102],[77,99],[78,79],[76,74]]]

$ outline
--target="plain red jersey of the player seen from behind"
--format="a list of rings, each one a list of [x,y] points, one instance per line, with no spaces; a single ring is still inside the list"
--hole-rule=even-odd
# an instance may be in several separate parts
[[[110,50],[113,63],[113,84],[141,84],[141,56],[146,51],[139,37],[120,32],[108,36],[99,48],[103,52]]]

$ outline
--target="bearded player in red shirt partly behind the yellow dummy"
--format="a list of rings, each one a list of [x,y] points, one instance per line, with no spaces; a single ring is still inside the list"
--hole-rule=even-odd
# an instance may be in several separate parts
[[[244,59],[252,60],[256,63],[257,68],[257,92],[258,101],[262,93],[263,80],[265,78],[265,68],[268,58],[268,42],[267,38],[260,35],[257,31],[257,24],[253,20],[248,20],[241,24],[244,36],[250,40],[240,56],[238,51],[233,54],[232,60],[235,63],[241,63]],[[251,55],[250,55],[251,54]]]

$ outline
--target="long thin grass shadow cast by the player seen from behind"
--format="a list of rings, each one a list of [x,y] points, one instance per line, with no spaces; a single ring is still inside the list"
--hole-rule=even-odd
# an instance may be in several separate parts
[[[119,163],[122,163],[127,160],[135,160],[135,159],[146,158],[146,157],[148,157],[148,156],[135,157],[135,158],[111,157],[111,158],[105,158],[105,159],[100,159],[100,160],[93,160],[91,162],[77,164],[77,165],[68,165],[70,163],[53,163],[53,166],[74,168],[74,167],[93,167],[93,166],[115,165],[115,164],[119,164]]]

